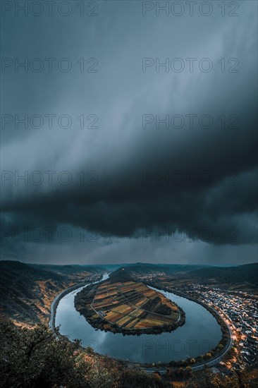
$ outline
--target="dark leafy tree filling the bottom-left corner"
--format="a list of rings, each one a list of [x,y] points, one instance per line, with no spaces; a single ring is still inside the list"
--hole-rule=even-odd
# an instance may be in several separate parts
[[[85,381],[89,365],[82,363],[78,342],[52,332],[46,325],[18,329],[10,323],[1,325],[0,360],[2,387],[90,387]],[[80,364],[80,368],[78,368]]]

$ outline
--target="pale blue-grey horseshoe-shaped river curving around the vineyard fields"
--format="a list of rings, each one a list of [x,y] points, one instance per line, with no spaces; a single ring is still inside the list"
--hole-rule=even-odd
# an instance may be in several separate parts
[[[107,279],[109,275],[104,275]],[[221,340],[221,328],[211,313],[198,303],[166,291],[159,291],[185,311],[185,325],[174,332],[123,336],[94,329],[74,306],[80,289],[63,296],[56,309],[56,326],[70,340],[81,339],[97,353],[137,363],[168,363],[207,353]]]

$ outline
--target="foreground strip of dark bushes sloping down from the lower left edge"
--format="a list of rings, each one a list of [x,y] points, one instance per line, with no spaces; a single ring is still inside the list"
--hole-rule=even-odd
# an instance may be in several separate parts
[[[72,343],[46,325],[30,329],[1,321],[0,334],[0,387],[168,387],[153,375],[82,351],[80,341]]]

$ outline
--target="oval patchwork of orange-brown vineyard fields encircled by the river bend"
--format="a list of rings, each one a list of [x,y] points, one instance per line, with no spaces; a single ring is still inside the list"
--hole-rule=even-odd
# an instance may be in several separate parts
[[[75,308],[92,326],[125,334],[172,331],[185,322],[176,304],[135,281],[104,281],[83,289]]]

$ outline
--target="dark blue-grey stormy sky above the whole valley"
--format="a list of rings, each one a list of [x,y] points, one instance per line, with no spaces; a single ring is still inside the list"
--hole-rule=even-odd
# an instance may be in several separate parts
[[[256,262],[257,1],[3,3],[1,259]]]

